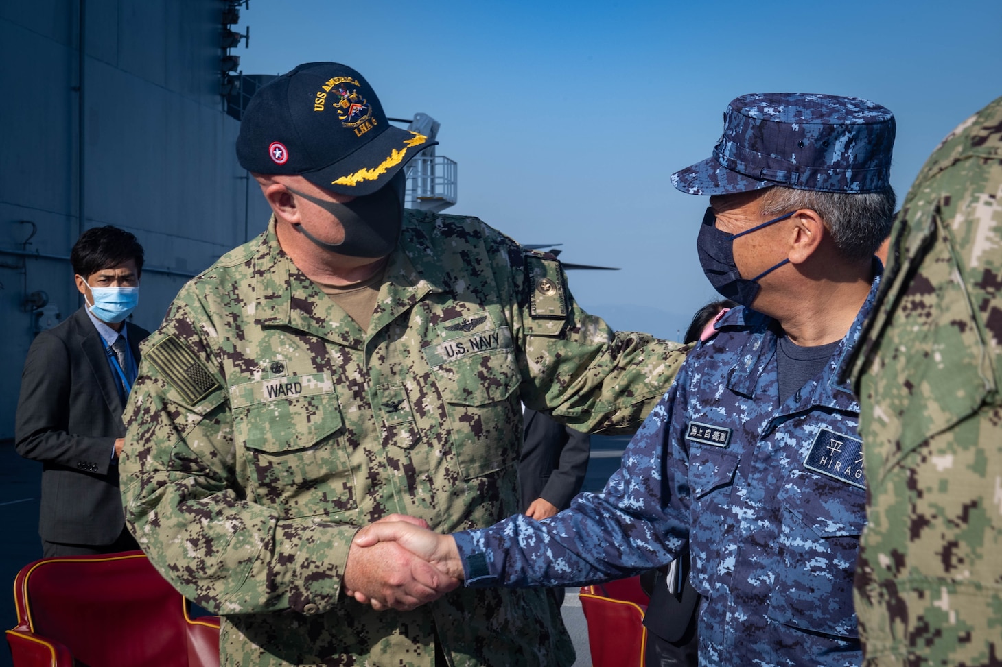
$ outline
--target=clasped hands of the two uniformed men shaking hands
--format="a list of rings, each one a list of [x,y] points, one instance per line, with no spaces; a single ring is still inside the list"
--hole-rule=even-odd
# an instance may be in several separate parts
[[[355,535],[344,586],[363,604],[411,611],[459,586],[463,564],[456,542],[423,519],[393,514]]]

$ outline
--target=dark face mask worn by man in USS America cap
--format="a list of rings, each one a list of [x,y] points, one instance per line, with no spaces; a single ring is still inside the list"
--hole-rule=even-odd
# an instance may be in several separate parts
[[[404,221],[404,190],[407,179],[401,169],[383,187],[372,194],[355,197],[351,201],[338,203],[318,199],[287,186],[293,194],[312,201],[338,218],[345,228],[345,240],[341,243],[322,241],[297,224],[304,236],[318,246],[331,252],[352,257],[385,257],[397,246],[400,225]]]

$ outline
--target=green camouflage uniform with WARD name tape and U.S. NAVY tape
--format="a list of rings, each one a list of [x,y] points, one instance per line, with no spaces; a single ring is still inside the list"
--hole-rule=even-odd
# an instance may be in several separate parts
[[[543,590],[382,613],[341,591],[390,513],[449,533],[518,512],[520,401],[633,430],[665,392],[684,350],[614,333],[564,280],[476,218],[407,211],[368,333],[274,218],[181,289],[143,350],[122,496],[157,569],[223,616],[223,665],[433,665],[436,631],[454,665],[573,661]]]

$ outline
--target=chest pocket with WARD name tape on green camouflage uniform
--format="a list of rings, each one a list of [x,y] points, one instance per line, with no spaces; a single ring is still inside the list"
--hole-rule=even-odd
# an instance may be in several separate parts
[[[316,374],[230,388],[233,437],[245,464],[240,468],[247,492],[285,519],[356,507],[330,378]]]

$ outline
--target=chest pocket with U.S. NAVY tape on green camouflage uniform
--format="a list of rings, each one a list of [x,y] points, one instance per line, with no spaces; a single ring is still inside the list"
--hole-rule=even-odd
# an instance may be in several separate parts
[[[425,350],[446,403],[450,441],[464,479],[506,469],[521,444],[511,396],[521,376],[507,326],[479,335],[477,347],[456,341]],[[486,342],[486,343],[484,343]],[[462,348],[459,346],[462,345]],[[455,359],[449,360],[452,352]]]

